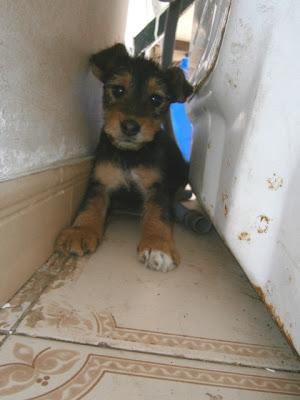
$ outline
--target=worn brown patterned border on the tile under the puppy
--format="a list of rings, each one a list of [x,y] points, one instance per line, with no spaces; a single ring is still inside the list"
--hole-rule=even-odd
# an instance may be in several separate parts
[[[300,370],[300,362],[286,348],[124,328],[107,312],[80,311],[65,302],[42,304],[28,313],[18,332],[191,359]]]

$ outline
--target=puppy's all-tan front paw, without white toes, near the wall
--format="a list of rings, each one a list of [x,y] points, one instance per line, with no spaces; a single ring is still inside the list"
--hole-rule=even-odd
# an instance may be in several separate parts
[[[54,249],[65,255],[83,256],[94,253],[98,245],[99,237],[94,230],[84,226],[73,226],[60,233]]]

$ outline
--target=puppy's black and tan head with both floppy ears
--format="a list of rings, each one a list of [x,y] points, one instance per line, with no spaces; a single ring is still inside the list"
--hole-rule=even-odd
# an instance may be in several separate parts
[[[130,57],[116,44],[90,58],[104,84],[104,131],[124,150],[138,150],[160,130],[169,106],[192,93],[180,68],[163,71],[154,61]]]

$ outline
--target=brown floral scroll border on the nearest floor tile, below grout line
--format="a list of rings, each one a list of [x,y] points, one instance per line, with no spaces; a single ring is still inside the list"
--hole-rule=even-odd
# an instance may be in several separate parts
[[[0,396],[15,395],[36,387],[38,396],[26,400],[79,400],[109,374],[123,374],[157,380],[192,383],[239,390],[300,396],[300,380],[169,365],[89,353],[85,356],[68,348],[45,347],[34,354],[31,346],[16,342],[17,362],[0,366]],[[66,372],[72,374],[66,376]],[[73,372],[75,371],[75,372]],[[53,386],[52,380],[62,375]],[[47,387],[51,390],[47,391]]]

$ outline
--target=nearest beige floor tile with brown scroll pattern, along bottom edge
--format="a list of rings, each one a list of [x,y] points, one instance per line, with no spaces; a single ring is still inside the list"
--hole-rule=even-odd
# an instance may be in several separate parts
[[[300,375],[11,336],[0,349],[3,400],[289,400]]]

